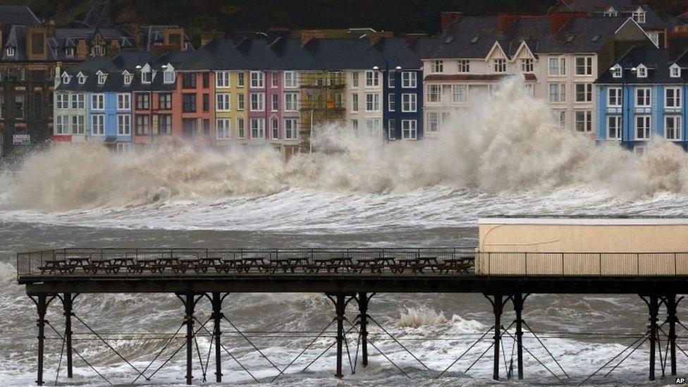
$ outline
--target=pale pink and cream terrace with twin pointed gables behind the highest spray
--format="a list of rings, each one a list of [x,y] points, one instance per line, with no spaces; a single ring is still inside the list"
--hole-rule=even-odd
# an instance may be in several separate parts
[[[594,135],[597,75],[632,44],[652,45],[630,18],[600,23],[579,13],[445,13],[442,20],[443,35],[423,59],[426,135],[447,125],[452,112],[460,116],[456,108],[489,97],[511,75],[522,76],[535,97],[548,101],[563,128]]]

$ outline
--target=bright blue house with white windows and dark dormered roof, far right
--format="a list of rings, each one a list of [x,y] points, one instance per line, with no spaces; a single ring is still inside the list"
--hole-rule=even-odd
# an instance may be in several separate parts
[[[653,137],[688,149],[688,52],[672,60],[667,51],[636,47],[596,80],[598,142],[614,141],[644,152]]]

